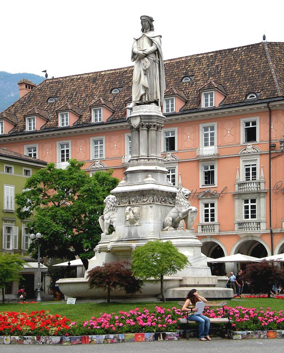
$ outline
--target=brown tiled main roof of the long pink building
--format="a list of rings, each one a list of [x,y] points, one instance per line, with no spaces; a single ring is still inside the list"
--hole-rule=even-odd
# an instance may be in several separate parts
[[[223,107],[245,102],[250,92],[258,92],[259,101],[284,96],[284,43],[257,43],[165,60],[164,63],[166,87],[174,87],[179,90],[176,92],[187,97],[184,111],[199,109],[199,89],[210,81],[217,82],[227,93]],[[78,106],[81,111],[77,126],[90,124],[90,106],[95,102],[114,111],[109,120],[123,120],[126,118],[125,101],[131,96],[132,74],[131,66],[47,79],[5,112],[17,117],[18,124],[13,132],[24,131],[24,115],[34,106],[47,110],[50,119],[43,129],[57,128],[56,111],[66,102]],[[184,76],[193,76],[193,79],[182,82]],[[122,89],[112,94],[113,87]],[[58,99],[50,104],[48,97]]]

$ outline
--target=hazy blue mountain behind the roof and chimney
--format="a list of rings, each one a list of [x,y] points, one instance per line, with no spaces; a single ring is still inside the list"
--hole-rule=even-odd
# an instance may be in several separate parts
[[[0,112],[20,98],[17,82],[22,78],[29,79],[37,85],[45,79],[43,76],[34,74],[9,74],[5,71],[0,71]]]

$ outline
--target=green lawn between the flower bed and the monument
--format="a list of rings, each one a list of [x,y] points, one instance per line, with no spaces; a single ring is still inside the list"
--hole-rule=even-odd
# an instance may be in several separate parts
[[[78,323],[89,320],[92,316],[98,317],[101,312],[106,313],[118,313],[119,310],[129,311],[136,307],[143,309],[144,307],[148,310],[153,310],[156,305],[164,306],[166,308],[172,308],[173,306],[179,307],[177,302],[158,302],[158,303],[76,303],[75,305],[67,305],[64,303],[36,303],[36,304],[0,304],[0,311],[36,311],[36,310],[49,310],[50,314],[60,314],[76,321]],[[243,306],[257,308],[263,307],[266,309],[269,306],[272,310],[283,310],[284,300],[274,298],[260,298],[260,299],[232,299],[228,301],[228,306]]]

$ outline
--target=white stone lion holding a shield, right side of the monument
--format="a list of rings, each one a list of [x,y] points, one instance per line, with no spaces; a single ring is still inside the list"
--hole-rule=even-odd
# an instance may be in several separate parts
[[[190,206],[189,196],[191,192],[188,189],[180,188],[176,194],[175,206],[169,211],[164,221],[163,230],[182,229],[179,224],[185,220],[186,229],[190,229],[197,214],[197,208]]]

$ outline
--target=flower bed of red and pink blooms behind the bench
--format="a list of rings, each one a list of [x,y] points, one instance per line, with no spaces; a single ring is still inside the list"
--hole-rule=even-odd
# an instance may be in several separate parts
[[[271,331],[284,330],[283,310],[272,311],[270,307],[265,310],[256,308],[244,308],[236,306],[224,307],[226,315],[232,320],[234,331]],[[221,318],[222,307],[210,309],[205,307],[204,315],[209,318]],[[1,337],[25,337],[25,336],[108,336],[117,334],[141,334],[148,337],[149,334],[166,334],[166,332],[177,332],[179,318],[184,317],[181,309],[172,307],[166,309],[156,306],[150,312],[148,309],[135,308],[133,310],[119,311],[118,314],[100,313],[100,316],[92,317],[83,323],[71,322],[65,316],[50,315],[48,311],[31,311],[30,313],[3,312],[0,313],[0,336]],[[216,324],[222,325],[222,324]],[[134,337],[134,336],[133,336]],[[150,336],[149,336],[150,337]],[[105,339],[105,338],[104,338]],[[58,340],[57,340],[58,341]]]

